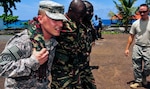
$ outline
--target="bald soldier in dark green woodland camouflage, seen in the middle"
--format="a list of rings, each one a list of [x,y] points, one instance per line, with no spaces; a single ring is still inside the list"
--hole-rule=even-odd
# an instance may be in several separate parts
[[[85,13],[86,7],[81,0],[73,0],[70,3],[65,14],[68,21],[64,22],[61,35],[57,37],[51,89],[96,88],[87,62],[87,29],[81,23]],[[85,76],[88,79],[83,79]]]

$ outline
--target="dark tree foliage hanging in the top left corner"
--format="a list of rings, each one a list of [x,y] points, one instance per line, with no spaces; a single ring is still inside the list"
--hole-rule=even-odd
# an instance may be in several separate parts
[[[11,8],[16,9],[15,2],[21,2],[21,0],[0,0],[0,6],[3,7],[4,14],[6,14],[6,16],[8,15],[8,13],[10,13],[10,15],[13,15]]]

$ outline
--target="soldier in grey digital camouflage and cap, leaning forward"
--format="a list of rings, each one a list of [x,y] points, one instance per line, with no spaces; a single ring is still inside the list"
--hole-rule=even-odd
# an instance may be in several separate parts
[[[38,16],[28,29],[13,36],[0,54],[0,76],[5,89],[49,89],[48,76],[60,35],[64,6],[53,1],[40,1]]]

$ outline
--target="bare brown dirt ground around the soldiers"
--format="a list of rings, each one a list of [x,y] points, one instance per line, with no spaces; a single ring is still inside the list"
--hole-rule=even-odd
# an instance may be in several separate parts
[[[128,83],[133,80],[131,54],[124,56],[128,34],[103,34],[103,37],[93,46],[90,60],[97,89],[130,89]],[[0,35],[0,52],[5,43],[6,37]],[[0,89],[3,89],[3,81],[0,77]],[[150,83],[148,87],[138,89],[150,89]]]

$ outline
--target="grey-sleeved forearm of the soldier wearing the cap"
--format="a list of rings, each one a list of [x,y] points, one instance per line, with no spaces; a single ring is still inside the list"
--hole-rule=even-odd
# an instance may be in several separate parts
[[[0,60],[3,60],[0,57]],[[21,77],[28,76],[31,70],[37,70],[39,68],[39,63],[36,59],[25,58],[19,59],[17,61],[2,61],[0,63],[0,76],[4,77]]]

